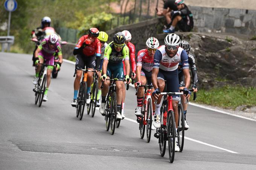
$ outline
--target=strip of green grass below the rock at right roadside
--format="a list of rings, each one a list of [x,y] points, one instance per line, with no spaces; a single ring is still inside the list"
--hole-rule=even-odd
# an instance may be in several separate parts
[[[211,90],[200,89],[198,103],[235,109],[238,106],[256,106],[256,88],[242,86],[224,86]]]

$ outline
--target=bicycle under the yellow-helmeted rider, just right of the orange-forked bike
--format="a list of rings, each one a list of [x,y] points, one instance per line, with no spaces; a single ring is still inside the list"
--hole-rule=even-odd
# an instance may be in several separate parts
[[[98,95],[98,74],[96,71],[91,71],[94,72],[93,74],[93,83],[91,84],[91,101],[90,104],[87,104],[87,114],[90,114],[91,110],[91,117],[94,117],[95,109],[96,109],[96,104],[97,104],[97,95]]]

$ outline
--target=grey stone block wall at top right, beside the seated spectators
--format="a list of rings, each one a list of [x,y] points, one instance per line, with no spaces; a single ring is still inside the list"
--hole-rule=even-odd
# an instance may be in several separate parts
[[[256,11],[189,6],[194,15],[194,32],[255,35]]]

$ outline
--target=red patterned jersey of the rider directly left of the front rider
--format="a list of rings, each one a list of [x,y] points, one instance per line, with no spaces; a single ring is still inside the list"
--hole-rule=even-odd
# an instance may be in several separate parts
[[[140,50],[137,54],[137,66],[142,66],[145,71],[152,71],[154,65],[154,57],[148,55],[148,50]]]

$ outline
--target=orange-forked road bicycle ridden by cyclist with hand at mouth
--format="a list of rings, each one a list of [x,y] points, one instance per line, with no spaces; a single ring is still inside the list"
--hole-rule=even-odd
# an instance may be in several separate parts
[[[82,71],[82,81],[80,82],[80,87],[78,91],[77,103],[76,103],[76,117],[79,117],[79,120],[82,120],[84,115],[84,107],[86,104],[86,95],[87,95],[87,72],[94,72],[87,69],[76,69]],[[76,71],[73,77],[76,76]]]

